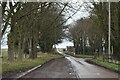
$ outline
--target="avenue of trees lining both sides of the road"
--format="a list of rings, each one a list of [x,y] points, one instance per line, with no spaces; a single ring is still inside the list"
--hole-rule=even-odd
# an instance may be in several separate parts
[[[61,43],[66,36],[74,43],[76,54],[102,54],[108,58],[108,3],[91,3],[87,18],[82,18],[69,26],[72,18],[82,7],[75,9],[69,3],[62,2],[1,2],[2,32],[7,35],[8,60],[22,60],[23,55],[37,57],[38,50],[54,52],[53,46]],[[71,9],[72,8],[72,9]],[[65,14],[73,14],[66,18]],[[111,59],[120,57],[120,2],[111,3]]]

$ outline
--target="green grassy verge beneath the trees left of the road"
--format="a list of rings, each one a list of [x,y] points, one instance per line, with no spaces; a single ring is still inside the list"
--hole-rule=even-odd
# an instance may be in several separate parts
[[[39,54],[39,57],[36,59],[23,59],[22,61],[19,60],[14,60],[13,62],[10,62],[7,60],[7,55],[4,52],[3,53],[3,60],[2,60],[2,72],[12,72],[12,71],[20,71],[23,69],[29,69],[35,66],[38,66],[40,64],[44,64],[45,62],[56,59],[56,58],[61,58],[63,57],[62,55],[59,54]]]

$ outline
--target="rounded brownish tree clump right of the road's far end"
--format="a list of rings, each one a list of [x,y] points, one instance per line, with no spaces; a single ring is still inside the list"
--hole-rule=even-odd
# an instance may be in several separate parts
[[[101,31],[91,18],[78,20],[69,31],[74,42],[75,53],[90,54],[101,49]]]

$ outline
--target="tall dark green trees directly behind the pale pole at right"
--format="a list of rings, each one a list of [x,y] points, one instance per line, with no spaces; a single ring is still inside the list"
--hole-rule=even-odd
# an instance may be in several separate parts
[[[103,30],[103,36],[105,37],[106,49],[108,43],[108,3],[93,3],[94,9],[93,14],[95,14],[97,18],[96,23],[100,23],[99,27]],[[111,56],[114,59],[118,59],[119,55],[119,25],[118,25],[118,16],[119,16],[119,2],[111,3]]]

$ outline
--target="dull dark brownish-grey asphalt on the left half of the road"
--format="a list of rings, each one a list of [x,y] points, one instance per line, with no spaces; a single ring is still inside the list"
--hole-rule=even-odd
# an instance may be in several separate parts
[[[76,78],[76,75],[70,61],[60,58],[44,64],[22,78]]]

